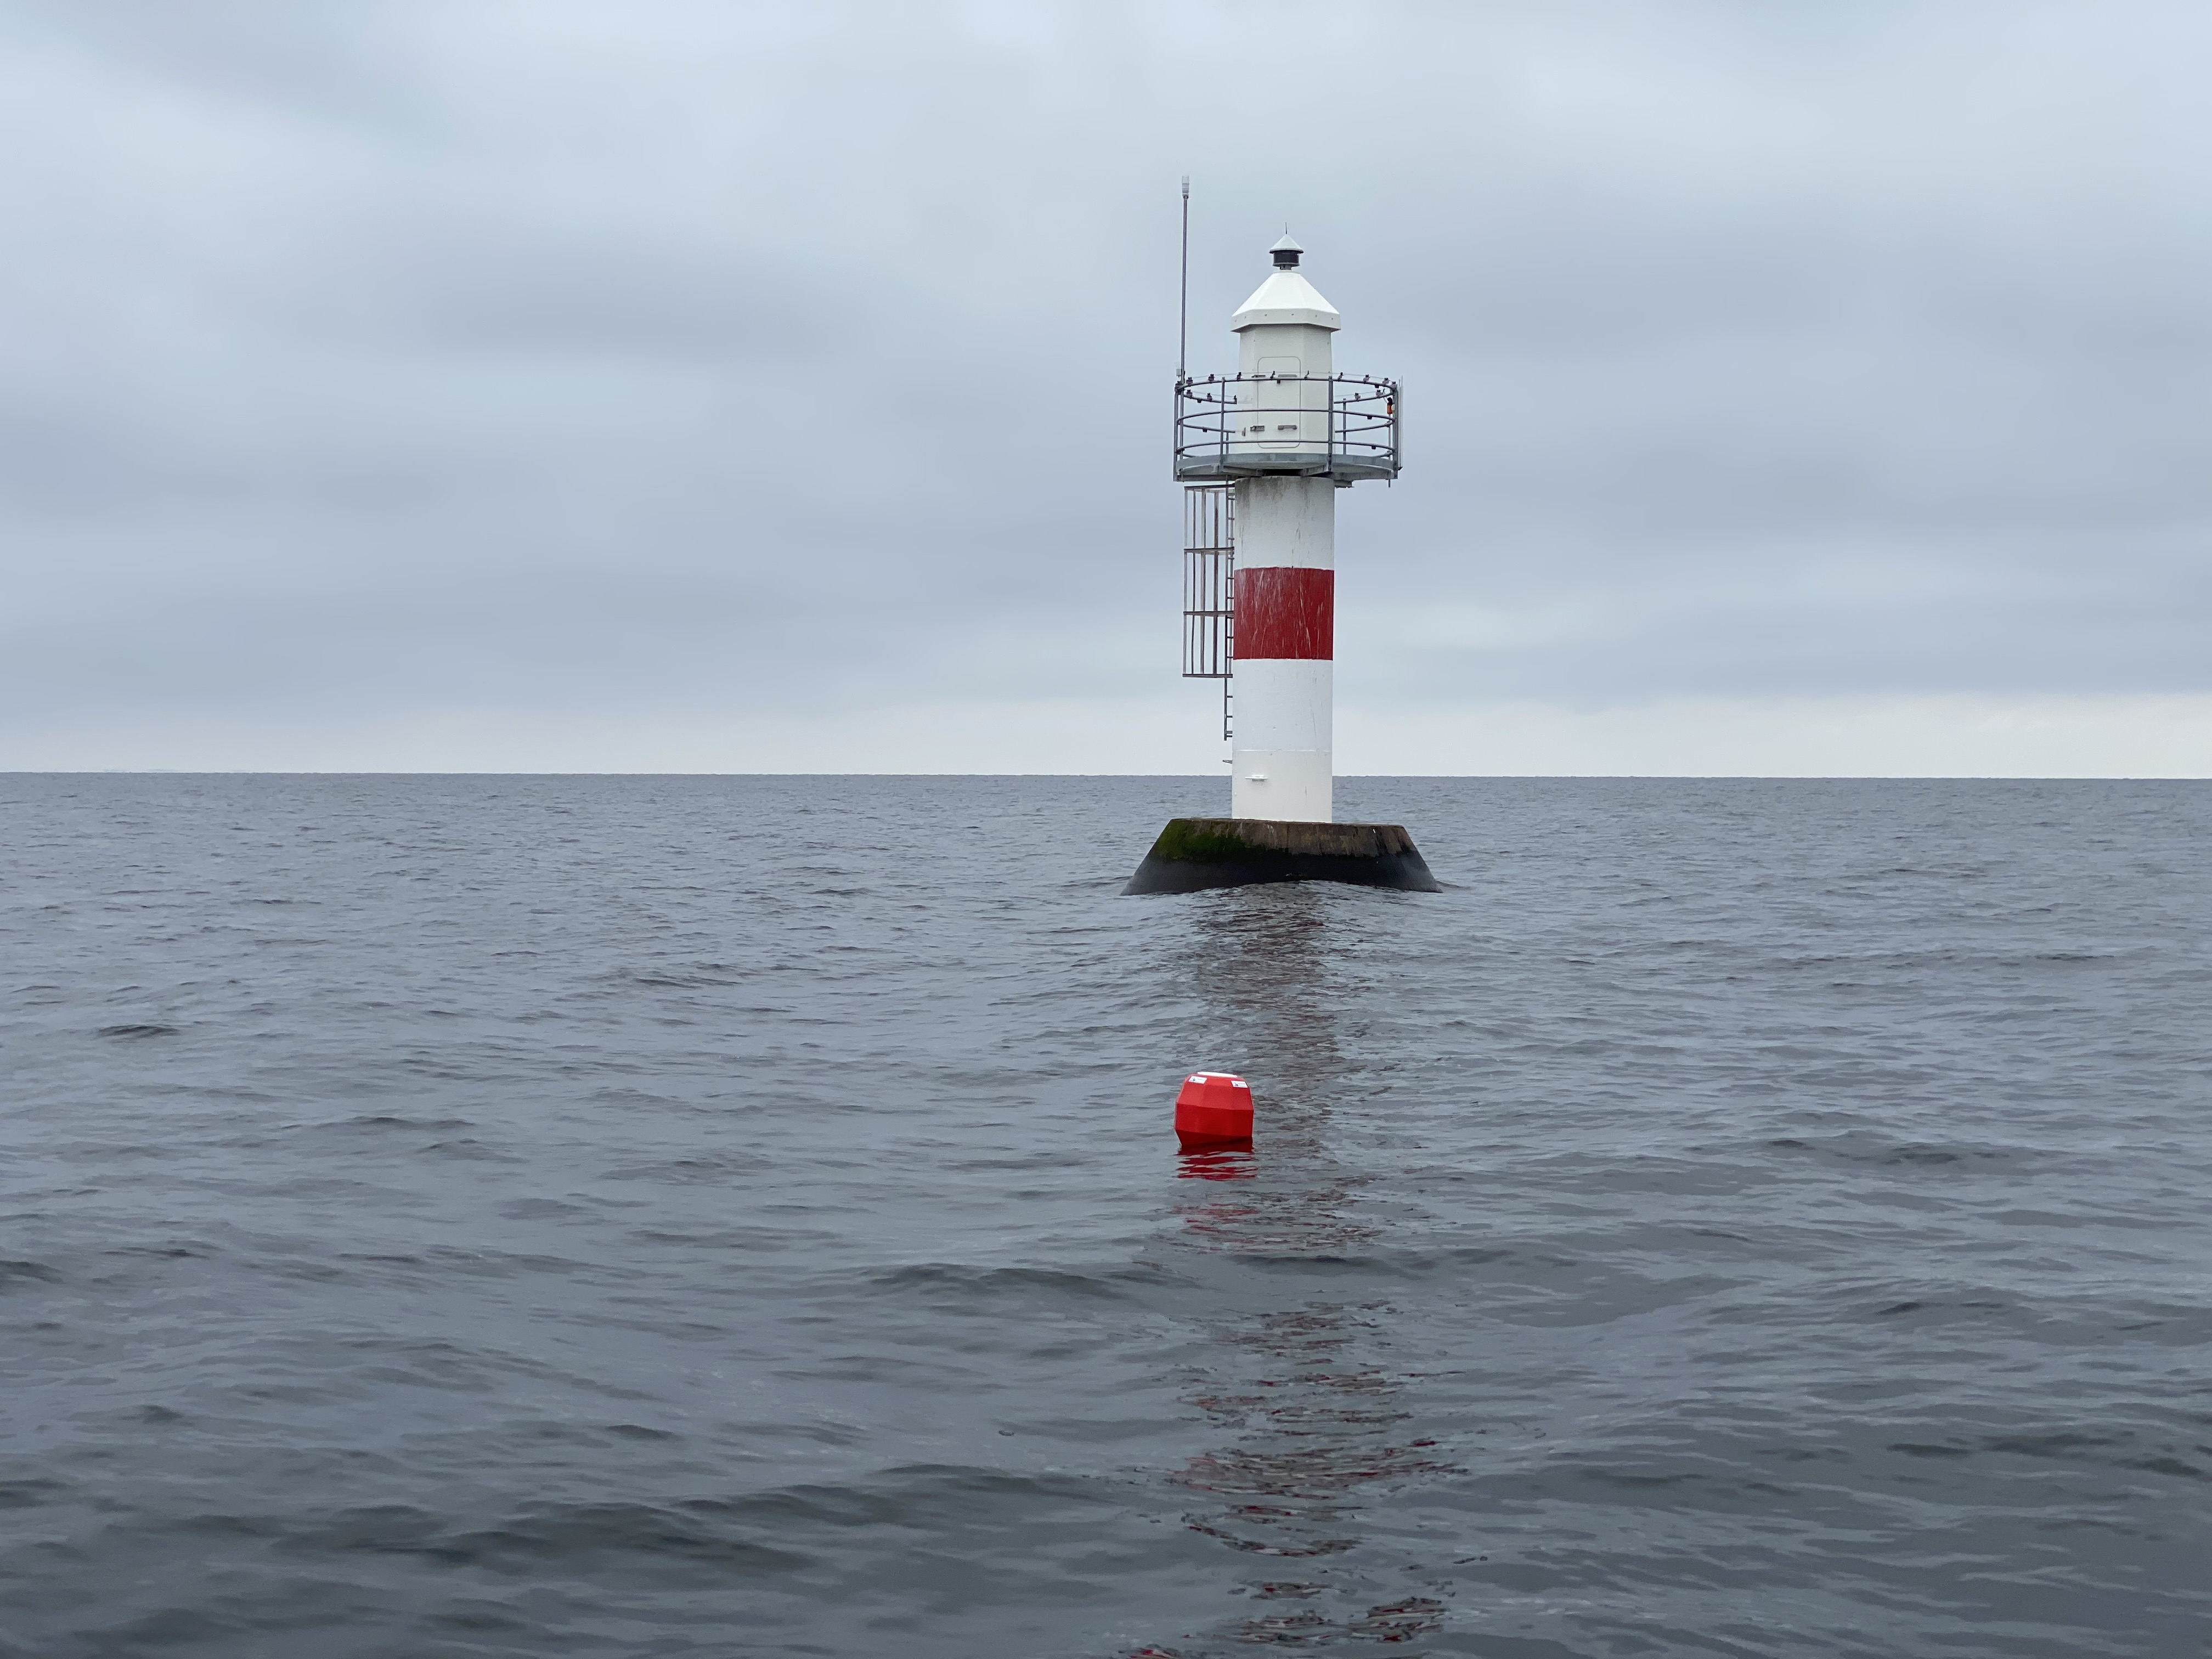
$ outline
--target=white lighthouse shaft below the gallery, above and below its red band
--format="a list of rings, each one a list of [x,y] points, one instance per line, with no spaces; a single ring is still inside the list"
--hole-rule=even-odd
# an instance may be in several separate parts
[[[1336,487],[1327,478],[1237,480],[1237,568],[1259,575],[1285,566],[1336,571]],[[1237,657],[1234,670],[1230,816],[1334,821],[1336,664]]]

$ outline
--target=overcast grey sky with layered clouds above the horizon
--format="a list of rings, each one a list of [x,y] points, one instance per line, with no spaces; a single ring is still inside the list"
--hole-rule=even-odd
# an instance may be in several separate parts
[[[1214,772],[1192,363],[1407,471],[1343,772],[2212,772],[2201,0],[0,0],[0,768]]]

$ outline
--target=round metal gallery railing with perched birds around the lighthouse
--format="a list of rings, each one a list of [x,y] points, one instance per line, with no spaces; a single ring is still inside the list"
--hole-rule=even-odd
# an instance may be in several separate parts
[[[1175,383],[1175,476],[1396,478],[1396,380],[1369,374],[1208,374]]]

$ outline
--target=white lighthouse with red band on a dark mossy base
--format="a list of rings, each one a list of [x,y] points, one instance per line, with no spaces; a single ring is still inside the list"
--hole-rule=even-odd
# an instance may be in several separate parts
[[[1305,250],[1285,234],[1267,254],[1274,270],[1230,316],[1237,372],[1175,383],[1183,675],[1223,681],[1230,816],[1170,821],[1124,891],[1436,891],[1405,827],[1336,823],[1336,491],[1398,478],[1405,398],[1336,372],[1343,319]]]

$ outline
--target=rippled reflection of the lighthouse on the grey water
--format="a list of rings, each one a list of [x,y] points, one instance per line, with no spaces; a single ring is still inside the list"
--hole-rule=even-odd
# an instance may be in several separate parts
[[[1349,1637],[1409,1641],[1438,1626],[1442,1604],[1405,1586],[1378,1595],[1380,1540],[1369,1509],[1394,1486],[1447,1464],[1407,1433],[1402,1383],[1378,1365],[1396,1310],[1371,1294],[1281,1301],[1270,1263],[1369,1254],[1376,1228],[1358,1214],[1367,1177],[1325,1141],[1327,1102],[1349,1066],[1338,1053],[1327,987],[1323,911],[1301,889],[1252,911],[1210,911],[1197,958],[1217,1024],[1265,1048],[1270,1088],[1256,1152],[1183,1157],[1181,1245],[1254,1272],[1250,1307],[1214,1327],[1206,1376],[1186,1396],[1221,1431],[1175,1482],[1203,1502],[1188,1526],[1228,1546],[1230,1577],[1259,1599],[1223,1635],[1239,1641]],[[1228,1177],[1228,1179],[1223,1179]],[[1352,1279],[1349,1283],[1356,1283]],[[1420,1586],[1429,1588],[1429,1586]]]

